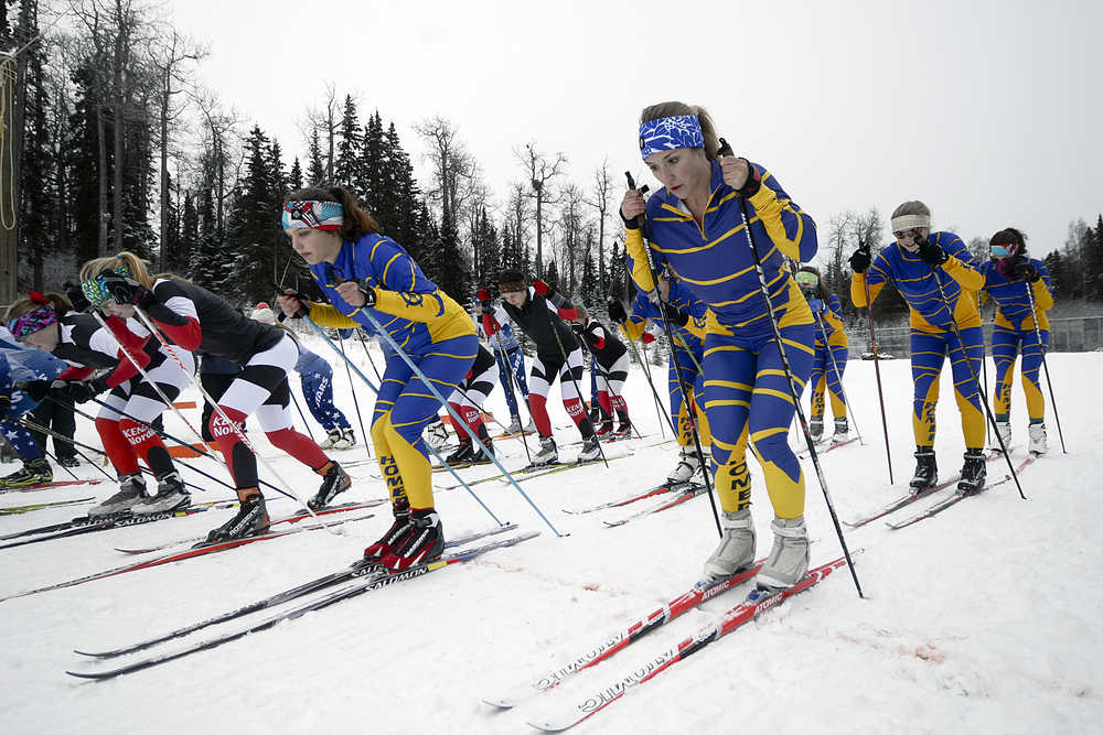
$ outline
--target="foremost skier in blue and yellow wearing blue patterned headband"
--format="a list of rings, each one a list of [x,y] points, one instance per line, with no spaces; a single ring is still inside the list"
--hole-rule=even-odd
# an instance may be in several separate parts
[[[781,331],[797,390],[803,390],[812,369],[815,327],[784,259],[803,261],[815,255],[815,223],[762,166],[740,158],[718,159],[719,143],[703,108],[663,102],[644,109],[640,148],[664,188],[646,204],[639,190],[631,190],[621,204],[629,224],[632,279],[643,292],[655,288],[650,248],[656,270],[668,268],[709,309],[705,411],[724,533],[705,563],[703,582],[753,563],[750,484],[740,450],[749,432],[775,515],[773,549],[757,581],[768,588],[792,586],[804,576],[808,560],[804,475],[786,441],[795,406],[771,320]],[[760,290],[741,205],[747,207],[773,314]],[[634,225],[638,215],[646,216],[642,230]]]

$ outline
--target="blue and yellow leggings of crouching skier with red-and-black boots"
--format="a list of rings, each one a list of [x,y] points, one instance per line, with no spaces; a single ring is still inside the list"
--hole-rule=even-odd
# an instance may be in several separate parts
[[[410,360],[441,396],[449,396],[467,377],[479,352],[473,335],[429,345]],[[432,508],[432,471],[421,432],[437,420],[440,399],[400,356],[387,355],[383,383],[372,417],[372,444],[392,502],[409,500],[410,508]]]

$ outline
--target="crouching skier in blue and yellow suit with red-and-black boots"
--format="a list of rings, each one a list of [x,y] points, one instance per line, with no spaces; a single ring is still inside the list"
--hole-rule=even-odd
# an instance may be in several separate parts
[[[374,333],[371,314],[440,393],[448,396],[465,378],[479,350],[471,318],[400,245],[378,234],[378,225],[347,191],[295,192],[283,206],[283,228],[330,301],[308,303],[311,320]],[[280,306],[289,314],[303,309],[287,296],[280,298]],[[429,561],[443,547],[421,440],[439,408],[440,400],[406,361],[388,355],[371,433],[390,488],[395,523],[364,553],[392,569]]]

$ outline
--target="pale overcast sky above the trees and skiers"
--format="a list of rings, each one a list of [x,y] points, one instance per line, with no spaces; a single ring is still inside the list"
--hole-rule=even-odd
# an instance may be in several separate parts
[[[1103,210],[1100,1],[173,6],[211,46],[202,78],[289,162],[306,148],[297,121],[332,82],[415,156],[410,126],[450,119],[499,197],[528,141],[564,151],[580,184],[608,159],[618,184],[628,169],[654,190],[639,114],[679,99],[773,172],[822,244],[839,212],[887,217],[920,198],[936,228],[1017,226],[1040,257]]]

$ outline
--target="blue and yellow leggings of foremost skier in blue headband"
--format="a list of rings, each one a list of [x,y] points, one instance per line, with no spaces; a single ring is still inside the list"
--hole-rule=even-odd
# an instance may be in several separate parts
[[[803,391],[812,371],[815,326],[785,326],[781,336],[796,390]],[[704,367],[705,411],[713,433],[714,478],[720,505],[735,512],[750,504],[745,458],[750,439],[765,474],[774,514],[780,518],[802,516],[804,474],[788,441],[796,408],[773,335],[737,337],[709,332],[705,337]]]

